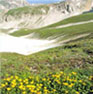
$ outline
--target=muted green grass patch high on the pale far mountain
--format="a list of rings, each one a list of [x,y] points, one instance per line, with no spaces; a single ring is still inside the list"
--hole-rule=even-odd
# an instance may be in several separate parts
[[[46,11],[46,13],[49,10],[48,6],[25,6],[25,7],[20,7],[20,8],[16,8],[16,9],[11,9],[9,10],[6,15],[11,15],[11,16],[20,16],[21,14],[31,14],[31,15],[38,15],[38,14],[44,14],[41,9],[44,9]]]

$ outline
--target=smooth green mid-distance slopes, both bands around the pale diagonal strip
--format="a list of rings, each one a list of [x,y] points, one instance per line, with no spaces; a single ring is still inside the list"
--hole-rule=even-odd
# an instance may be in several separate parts
[[[28,35],[30,33],[35,32],[35,33],[38,33],[40,35],[40,38],[46,38],[46,37],[49,37],[51,35],[56,35],[56,34],[61,34],[61,33],[64,33],[64,34],[69,33],[70,34],[74,31],[76,31],[76,32],[82,31],[83,32],[83,31],[85,31],[84,29],[89,30],[90,28],[92,28],[93,23],[71,26],[71,27],[68,27],[68,28],[60,28],[60,29],[53,29],[51,27],[69,24],[69,23],[74,23],[74,22],[76,23],[76,22],[88,21],[88,20],[93,20],[93,13],[87,13],[87,14],[74,16],[74,17],[65,19],[61,22],[58,22],[56,24],[53,24],[53,25],[50,25],[50,26],[47,26],[47,27],[44,27],[44,28],[40,28],[40,29],[33,29],[33,30],[21,29],[21,30],[14,32],[14,33],[11,33],[11,35],[19,37],[19,36]]]

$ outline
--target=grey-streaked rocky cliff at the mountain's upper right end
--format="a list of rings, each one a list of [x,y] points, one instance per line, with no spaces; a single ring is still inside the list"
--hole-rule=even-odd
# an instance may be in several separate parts
[[[63,13],[75,13],[88,11],[93,6],[93,0],[66,0],[65,4],[59,3],[58,8]]]

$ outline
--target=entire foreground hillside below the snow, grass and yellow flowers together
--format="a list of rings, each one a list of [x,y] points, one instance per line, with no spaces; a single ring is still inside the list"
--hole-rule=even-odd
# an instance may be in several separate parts
[[[80,92],[85,94],[92,93],[92,45],[93,34],[70,41],[64,46],[29,56],[2,53],[1,76],[5,78],[2,84],[2,94],[5,94],[5,92],[23,93],[23,91],[26,94],[30,94],[30,92],[32,94],[38,94],[38,92],[41,92],[41,94],[46,92],[46,94],[48,92],[50,94],[59,94],[59,92],[60,94],[65,94],[66,91],[71,94],[79,94]],[[64,74],[60,74],[63,71]],[[12,75],[15,76],[13,77]],[[14,80],[16,84],[12,85]],[[30,83],[30,81],[33,82]],[[5,85],[7,82],[10,84]],[[23,83],[22,86],[21,83]],[[39,90],[37,90],[37,84],[42,84]],[[33,91],[27,85],[34,86]],[[58,87],[60,88],[57,89]],[[15,91],[15,88],[18,91]]]

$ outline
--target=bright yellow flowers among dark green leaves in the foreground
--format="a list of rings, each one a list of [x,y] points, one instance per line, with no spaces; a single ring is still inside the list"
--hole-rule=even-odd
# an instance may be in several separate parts
[[[62,94],[80,94],[81,91],[85,92],[82,87],[88,87],[88,90],[89,86],[91,87],[88,83],[91,83],[93,76],[87,78],[80,78],[76,72],[70,74],[59,72],[46,75],[45,77],[29,76],[26,79],[10,76],[3,79],[1,93],[58,94],[61,92]]]

